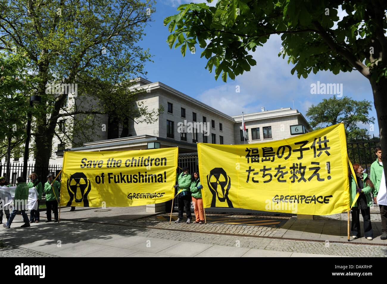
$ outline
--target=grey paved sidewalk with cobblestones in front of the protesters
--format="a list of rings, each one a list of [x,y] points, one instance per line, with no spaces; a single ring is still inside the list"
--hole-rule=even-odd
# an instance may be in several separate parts
[[[70,212],[69,209],[61,210],[62,221],[59,224],[45,223],[43,218],[45,212],[41,212],[41,222],[31,224],[30,228],[25,229],[20,228],[22,218],[21,215],[17,215],[11,229],[0,229],[0,239],[9,246],[0,249],[0,256],[385,257],[387,255],[387,247],[384,246],[348,243],[346,231],[343,234],[345,243],[337,243],[334,240],[316,242],[283,239],[286,234],[290,236],[293,232],[301,233],[301,236],[304,236],[304,233],[316,234],[309,236],[311,240],[317,239],[317,235],[321,238],[323,232],[328,232],[329,222],[346,224],[346,221],[340,219],[344,218],[341,214],[329,216],[328,219],[310,221],[285,216],[279,218],[209,214],[209,217],[212,216],[209,219],[212,219],[213,223],[199,225],[169,224],[169,221],[165,220],[168,214],[155,216],[146,213],[145,206],[106,209],[80,207],[74,212]],[[346,218],[346,214],[344,215]],[[279,222],[267,221],[274,219]],[[321,233],[310,232],[312,229],[320,230],[317,229],[318,226],[313,225],[316,221],[324,222]],[[259,222],[266,225],[246,225]],[[373,222],[373,225],[374,223],[377,222]],[[332,230],[332,235],[328,234],[329,238],[335,237],[338,232],[337,225],[332,228],[336,230]],[[341,236],[341,231],[339,232]],[[270,238],[267,238],[268,236]]]

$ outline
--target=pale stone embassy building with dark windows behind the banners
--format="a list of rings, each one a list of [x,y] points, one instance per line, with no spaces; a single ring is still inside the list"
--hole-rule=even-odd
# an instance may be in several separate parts
[[[138,96],[151,109],[164,108],[152,124],[131,122],[128,136],[120,138],[122,126],[116,131],[100,131],[98,141],[84,143],[71,151],[121,151],[179,147],[179,154],[197,152],[196,143],[251,144],[281,140],[312,130],[296,109],[281,108],[245,114],[247,137],[243,136],[242,115],[229,116],[185,95],[161,82],[137,78],[134,88],[146,92]],[[108,117],[105,121],[108,125]],[[63,154],[62,154],[63,155]],[[61,153],[56,162],[60,163]]]

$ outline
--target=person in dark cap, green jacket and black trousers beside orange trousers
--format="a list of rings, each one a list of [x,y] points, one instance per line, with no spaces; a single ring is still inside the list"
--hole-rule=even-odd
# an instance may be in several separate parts
[[[179,200],[179,215],[175,223],[183,221],[183,210],[185,206],[185,212],[187,214],[187,224],[191,223],[191,176],[188,174],[188,167],[182,168],[182,173],[178,176],[178,184],[175,185],[175,189],[181,191],[178,197]]]

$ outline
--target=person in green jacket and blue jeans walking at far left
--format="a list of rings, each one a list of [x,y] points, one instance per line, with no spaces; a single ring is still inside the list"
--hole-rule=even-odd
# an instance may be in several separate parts
[[[9,216],[9,219],[7,221],[7,224],[3,224],[4,228],[10,229],[12,221],[14,221],[14,218],[16,214],[21,211],[23,216],[24,224],[21,226],[22,228],[26,228],[31,226],[28,221],[28,216],[26,213],[27,208],[27,201],[28,201],[28,186],[26,184],[26,181],[23,179],[23,177],[18,177],[16,179],[16,189],[15,189],[15,198],[14,198],[14,210]]]

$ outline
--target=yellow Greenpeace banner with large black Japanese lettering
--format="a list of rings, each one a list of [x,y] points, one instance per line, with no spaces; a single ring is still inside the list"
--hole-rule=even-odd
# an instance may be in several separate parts
[[[204,207],[330,215],[349,210],[343,124],[259,144],[198,143]]]

